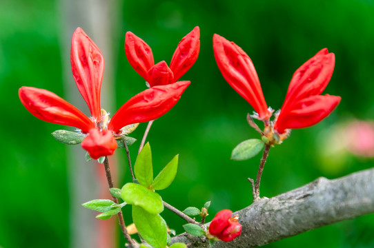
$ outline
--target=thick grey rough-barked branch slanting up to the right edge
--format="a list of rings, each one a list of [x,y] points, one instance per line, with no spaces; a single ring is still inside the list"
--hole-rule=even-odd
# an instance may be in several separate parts
[[[335,180],[318,178],[312,183],[273,198],[262,198],[239,214],[242,235],[213,247],[259,247],[318,227],[374,212],[374,169]],[[181,234],[172,242],[208,247],[199,237]]]

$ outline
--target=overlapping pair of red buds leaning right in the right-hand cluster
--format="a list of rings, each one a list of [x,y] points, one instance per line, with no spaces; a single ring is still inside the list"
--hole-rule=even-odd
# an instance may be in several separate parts
[[[334,65],[335,55],[324,48],[296,70],[275,121],[274,129],[279,134],[286,129],[315,125],[335,110],[340,96],[319,95],[330,81]]]

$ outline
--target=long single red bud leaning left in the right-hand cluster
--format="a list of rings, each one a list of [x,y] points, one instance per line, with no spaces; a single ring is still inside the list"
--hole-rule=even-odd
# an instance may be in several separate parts
[[[218,68],[228,84],[252,105],[259,114],[259,119],[270,118],[271,112],[249,56],[235,43],[218,34],[213,36],[213,50]]]

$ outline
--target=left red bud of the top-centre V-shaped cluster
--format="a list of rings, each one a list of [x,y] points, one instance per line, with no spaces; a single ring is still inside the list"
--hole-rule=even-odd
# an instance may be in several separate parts
[[[147,72],[155,65],[150,46],[132,32],[126,32],[125,53],[134,70],[147,80]]]

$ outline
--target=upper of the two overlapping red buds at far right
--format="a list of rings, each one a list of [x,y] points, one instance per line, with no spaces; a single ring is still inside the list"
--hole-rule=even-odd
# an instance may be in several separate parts
[[[292,105],[297,99],[321,94],[333,75],[335,54],[327,48],[317,52],[293,74],[284,105]]]

